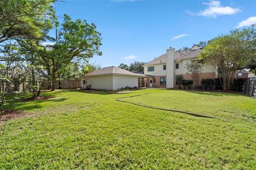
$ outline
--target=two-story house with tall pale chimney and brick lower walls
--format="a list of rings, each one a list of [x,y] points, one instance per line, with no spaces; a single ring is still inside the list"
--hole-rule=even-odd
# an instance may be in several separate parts
[[[174,51],[174,48],[167,49],[166,54],[144,65],[144,74],[154,76],[154,78],[146,78],[146,87],[175,88],[178,85],[177,77],[182,76],[183,79],[192,79],[191,74],[188,74],[186,64],[197,60],[200,52],[202,52],[202,48],[196,45],[190,49],[177,52]],[[209,63],[204,65],[200,79],[206,78],[218,78],[215,67]]]

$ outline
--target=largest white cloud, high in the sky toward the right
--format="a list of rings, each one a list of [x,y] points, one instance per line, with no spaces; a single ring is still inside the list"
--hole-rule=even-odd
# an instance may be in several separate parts
[[[190,15],[201,15],[201,16],[209,16],[212,18],[217,18],[219,15],[233,15],[237,12],[241,11],[239,8],[233,8],[230,6],[222,6],[220,1],[210,1],[208,3],[203,3],[208,7],[198,13],[186,11]]]

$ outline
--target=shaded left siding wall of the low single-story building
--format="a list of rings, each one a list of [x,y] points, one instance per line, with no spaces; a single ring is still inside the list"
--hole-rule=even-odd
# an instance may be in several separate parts
[[[87,77],[81,79],[82,87],[86,87],[83,84],[83,80],[87,80],[87,84],[92,85],[92,89],[112,90],[113,89],[113,75],[100,75],[95,77]],[[137,85],[138,86],[138,85]]]

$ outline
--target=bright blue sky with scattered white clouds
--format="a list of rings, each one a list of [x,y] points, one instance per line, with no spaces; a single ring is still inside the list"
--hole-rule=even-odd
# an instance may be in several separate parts
[[[256,23],[256,1],[76,1],[55,5],[57,15],[95,23],[102,34],[102,67],[148,62]],[[52,32],[51,32],[52,33]]]

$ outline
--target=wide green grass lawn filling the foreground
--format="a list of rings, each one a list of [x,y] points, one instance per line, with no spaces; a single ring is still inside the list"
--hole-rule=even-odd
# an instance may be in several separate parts
[[[122,103],[116,98],[123,98]],[[256,100],[237,94],[137,90],[44,92],[0,123],[0,169],[255,169]],[[161,111],[176,109],[213,118]],[[11,105],[12,104],[12,105]]]

